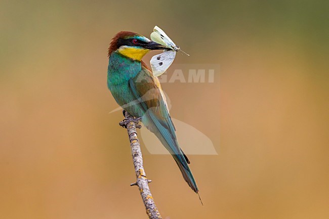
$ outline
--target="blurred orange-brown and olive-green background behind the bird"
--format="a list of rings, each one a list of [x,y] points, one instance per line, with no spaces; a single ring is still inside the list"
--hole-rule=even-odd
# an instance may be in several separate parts
[[[109,114],[107,48],[155,25],[190,54],[176,64],[220,65],[214,83],[162,85],[218,153],[189,156],[201,206],[173,158],[142,146],[162,217],[329,218],[328,7],[1,0],[0,218],[147,217],[122,113]]]

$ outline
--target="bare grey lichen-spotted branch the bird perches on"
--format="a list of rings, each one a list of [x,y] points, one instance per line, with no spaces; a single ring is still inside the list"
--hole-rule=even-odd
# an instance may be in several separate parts
[[[138,125],[139,119],[135,119],[127,111],[124,111],[124,115],[125,120],[121,121],[119,124],[127,128],[137,179],[136,183],[132,183],[131,186],[138,186],[148,217],[150,219],[161,219],[162,217],[155,205],[150,188],[148,187],[148,184],[152,181],[146,178],[143,166],[142,151],[136,132],[136,127],[140,128],[140,125]]]

